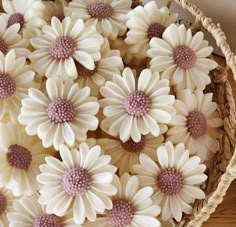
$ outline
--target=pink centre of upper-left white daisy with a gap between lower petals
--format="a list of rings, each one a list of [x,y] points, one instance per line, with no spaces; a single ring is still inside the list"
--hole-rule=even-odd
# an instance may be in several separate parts
[[[49,45],[49,54],[55,60],[65,60],[71,57],[76,48],[75,41],[69,36],[59,36]]]

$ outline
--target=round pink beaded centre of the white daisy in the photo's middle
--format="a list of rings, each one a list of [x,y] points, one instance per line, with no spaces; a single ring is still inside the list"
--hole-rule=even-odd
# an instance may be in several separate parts
[[[144,92],[135,91],[125,98],[124,108],[129,115],[142,117],[150,109],[150,99]]]

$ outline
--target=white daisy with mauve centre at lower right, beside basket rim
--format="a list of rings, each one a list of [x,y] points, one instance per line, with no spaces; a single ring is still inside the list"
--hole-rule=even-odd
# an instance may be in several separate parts
[[[176,147],[171,142],[160,146],[157,159],[158,164],[146,154],[140,154],[140,164],[134,165],[133,170],[141,186],[153,188],[152,199],[160,205],[163,221],[173,217],[179,222],[183,212],[192,212],[190,203],[205,198],[199,185],[207,179],[206,166],[199,164],[198,156],[189,157],[183,143]]]

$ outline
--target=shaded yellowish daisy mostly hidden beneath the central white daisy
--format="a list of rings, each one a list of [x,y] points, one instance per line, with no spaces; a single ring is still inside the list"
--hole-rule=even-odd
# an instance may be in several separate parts
[[[164,132],[162,132],[164,133]],[[98,139],[105,154],[111,156],[111,164],[119,169],[119,175],[130,172],[134,164],[139,163],[139,155],[147,154],[153,160],[156,159],[157,147],[164,141],[164,137],[153,137],[152,135],[141,136],[139,142],[129,139],[125,143],[118,139]]]

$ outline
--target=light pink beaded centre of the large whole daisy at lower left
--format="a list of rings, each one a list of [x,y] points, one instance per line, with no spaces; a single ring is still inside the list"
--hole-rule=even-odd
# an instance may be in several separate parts
[[[62,186],[69,195],[82,195],[89,190],[92,178],[88,170],[83,168],[69,169],[62,177]]]

